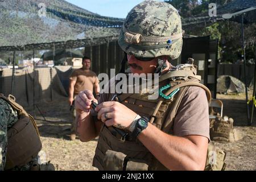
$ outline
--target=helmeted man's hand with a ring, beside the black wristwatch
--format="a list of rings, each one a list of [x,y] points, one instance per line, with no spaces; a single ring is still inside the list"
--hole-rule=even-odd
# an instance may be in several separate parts
[[[119,102],[103,102],[95,110],[98,112],[98,119],[106,126],[114,126],[119,129],[126,129],[137,117],[134,111]]]

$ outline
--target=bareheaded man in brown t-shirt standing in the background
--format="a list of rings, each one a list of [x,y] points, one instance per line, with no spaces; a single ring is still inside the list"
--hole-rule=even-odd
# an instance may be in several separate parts
[[[100,85],[96,73],[90,71],[91,60],[89,57],[82,58],[82,68],[75,70],[69,77],[69,105],[72,106],[77,94],[84,90],[94,91],[96,98],[100,96]],[[76,111],[72,109],[73,123],[71,140],[76,139]]]

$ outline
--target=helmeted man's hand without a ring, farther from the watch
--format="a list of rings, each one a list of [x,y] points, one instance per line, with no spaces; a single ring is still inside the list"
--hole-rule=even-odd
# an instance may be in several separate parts
[[[75,109],[78,113],[84,114],[90,112],[90,105],[92,101],[98,103],[98,101],[94,98],[93,93],[90,90],[84,90],[84,92],[80,92],[76,97],[75,101]]]

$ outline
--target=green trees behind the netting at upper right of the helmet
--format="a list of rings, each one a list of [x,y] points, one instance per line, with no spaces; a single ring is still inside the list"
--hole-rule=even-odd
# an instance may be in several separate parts
[[[191,16],[205,16],[208,14],[208,5],[211,2],[217,3],[218,6],[225,5],[232,0],[201,0],[201,1],[166,1],[175,6],[183,18]],[[254,58],[254,43],[256,41],[256,23],[245,25],[245,44],[246,44],[246,59]],[[241,38],[241,23],[231,21],[219,21],[209,26],[198,24],[185,28],[186,34],[196,36],[208,36],[211,39],[219,40],[219,55],[221,61],[229,61],[236,63],[242,55],[242,38]]]

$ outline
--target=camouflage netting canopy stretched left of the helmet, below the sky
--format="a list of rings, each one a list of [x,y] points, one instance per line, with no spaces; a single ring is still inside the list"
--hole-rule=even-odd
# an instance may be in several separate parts
[[[102,44],[117,39],[122,23],[123,19],[100,16],[63,0],[3,0],[0,51]]]

